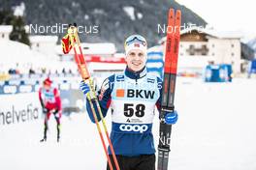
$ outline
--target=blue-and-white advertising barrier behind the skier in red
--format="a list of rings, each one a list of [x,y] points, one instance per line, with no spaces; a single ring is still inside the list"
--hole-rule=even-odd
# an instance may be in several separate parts
[[[53,87],[59,89],[63,113],[70,114],[85,111],[85,101],[79,90],[80,76],[51,75],[50,78],[53,80]],[[44,79],[45,76],[16,76],[8,81],[0,81],[0,96],[37,93]]]

